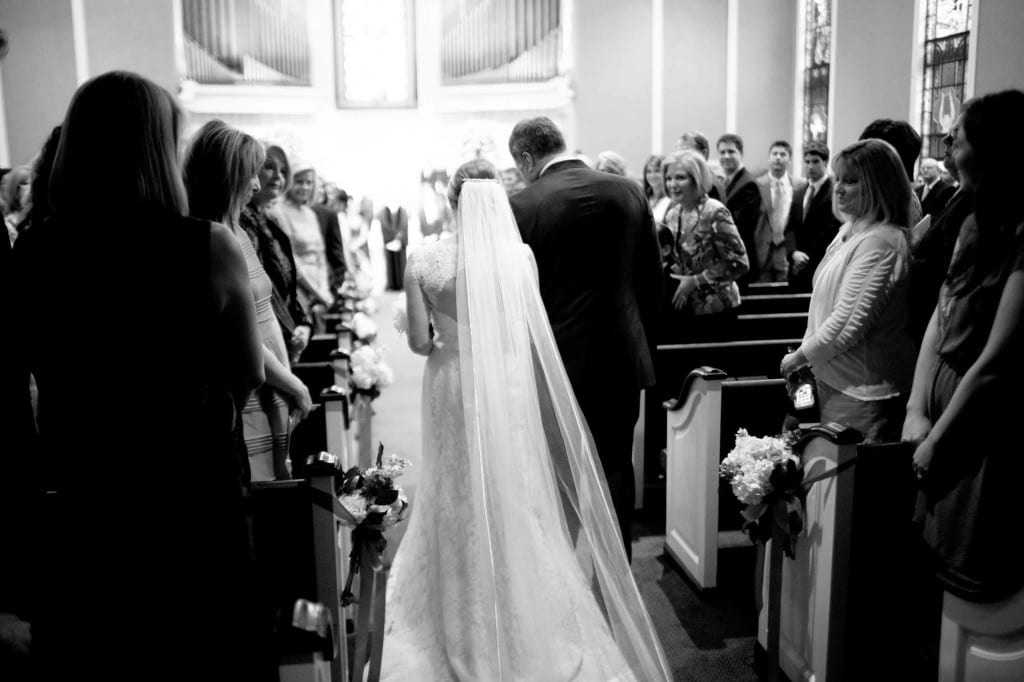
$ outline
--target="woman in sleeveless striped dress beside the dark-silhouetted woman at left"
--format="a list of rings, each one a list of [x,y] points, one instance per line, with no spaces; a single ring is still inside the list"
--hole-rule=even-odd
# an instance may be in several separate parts
[[[291,478],[289,436],[312,410],[309,390],[289,367],[288,348],[273,313],[273,285],[256,248],[239,226],[242,207],[259,187],[265,156],[260,143],[223,121],[210,121],[185,150],[184,180],[191,214],[230,229],[249,270],[266,383],[242,408],[243,435],[252,480]]]

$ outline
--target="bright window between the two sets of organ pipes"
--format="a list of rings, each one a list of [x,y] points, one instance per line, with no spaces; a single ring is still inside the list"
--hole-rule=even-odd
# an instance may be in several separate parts
[[[335,0],[339,106],[416,104],[413,0]]]

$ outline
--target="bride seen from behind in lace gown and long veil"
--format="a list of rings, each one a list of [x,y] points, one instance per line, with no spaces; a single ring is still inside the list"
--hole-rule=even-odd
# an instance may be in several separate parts
[[[423,466],[387,596],[385,680],[670,680],[497,169],[453,178],[413,254]]]

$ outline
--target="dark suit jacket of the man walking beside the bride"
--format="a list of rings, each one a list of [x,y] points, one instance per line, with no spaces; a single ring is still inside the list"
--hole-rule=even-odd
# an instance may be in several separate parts
[[[509,201],[573,389],[653,385],[662,265],[639,183],[565,161]]]

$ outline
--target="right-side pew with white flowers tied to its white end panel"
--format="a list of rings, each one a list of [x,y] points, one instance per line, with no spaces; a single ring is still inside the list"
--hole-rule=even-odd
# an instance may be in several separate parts
[[[927,675],[913,669],[910,650],[928,625],[914,608],[928,573],[910,520],[912,447],[858,445],[859,439],[829,424],[810,429],[803,447],[805,477],[837,473],[808,491],[796,558],[782,559],[779,666],[791,680]],[[762,585],[767,605],[767,571]],[[767,610],[759,619],[761,647]]]

